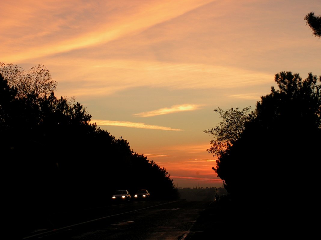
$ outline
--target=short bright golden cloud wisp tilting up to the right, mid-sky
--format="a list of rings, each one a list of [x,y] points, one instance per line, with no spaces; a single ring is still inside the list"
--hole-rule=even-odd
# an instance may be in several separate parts
[[[149,112],[136,113],[134,114],[134,116],[151,117],[151,116],[165,115],[165,114],[184,112],[184,111],[194,111],[199,109],[201,106],[203,105],[200,105],[200,104],[174,105],[174,106],[171,106],[170,108],[160,108]]]

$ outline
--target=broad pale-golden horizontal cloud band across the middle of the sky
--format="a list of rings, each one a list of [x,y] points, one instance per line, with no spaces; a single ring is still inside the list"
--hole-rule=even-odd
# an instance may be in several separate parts
[[[272,78],[264,72],[195,63],[77,58],[55,58],[47,62],[51,66],[50,71],[57,74],[58,80],[69,75],[68,81],[73,83],[72,90],[62,90],[62,96],[96,97],[134,87],[167,88],[170,91],[254,87],[271,83]],[[86,69],[91,69],[90,74]],[[85,81],[86,85],[80,85],[79,79]]]

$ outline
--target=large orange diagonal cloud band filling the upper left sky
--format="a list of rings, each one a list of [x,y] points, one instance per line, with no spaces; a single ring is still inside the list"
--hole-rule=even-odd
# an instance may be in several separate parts
[[[63,4],[62,7],[59,7],[60,4],[54,4],[53,1],[47,1],[48,4],[37,4],[37,2],[39,1],[31,2],[31,6],[34,5],[32,9],[34,14],[30,14],[27,11],[30,9],[29,2],[21,2],[20,4],[23,7],[20,8],[10,8],[11,5],[6,4],[6,8],[17,11],[15,16],[18,18],[18,20],[15,19],[12,22],[7,21],[8,25],[17,27],[19,23],[25,24],[24,21],[30,21],[39,26],[39,23],[36,22],[38,19],[34,17],[38,13],[46,20],[47,25],[40,24],[39,28],[34,28],[32,32],[27,32],[29,41],[25,42],[23,51],[20,49],[20,51],[4,52],[3,57],[5,61],[22,61],[114,41],[120,37],[142,32],[154,25],[176,18],[204,4],[210,3],[211,0],[162,0],[150,1],[148,3],[141,2],[138,6],[135,4],[128,6],[128,1],[119,1],[118,3],[112,3],[112,5],[108,3],[97,4],[95,2],[79,4],[78,1],[66,1],[67,4]],[[46,1],[43,2],[46,3]],[[122,17],[114,15],[108,18],[111,7],[116,9],[117,12],[116,6],[119,9],[124,9]],[[3,12],[5,12],[6,8],[2,9]],[[97,8],[100,9],[97,10]],[[62,15],[56,14],[56,12],[66,12],[67,9],[68,14],[72,17],[68,18],[66,17],[67,15],[62,17]],[[102,14],[101,9],[105,9],[105,14]],[[22,13],[21,16],[17,14],[19,11]],[[99,12],[100,16],[105,19],[100,19],[93,24],[91,20],[84,18],[85,12]],[[60,38],[56,37],[58,36],[57,33],[59,33]],[[24,37],[21,34],[21,32],[17,32],[15,36],[18,38]],[[37,45],[39,40],[35,36],[32,37],[32,35],[46,36],[48,41],[39,46]],[[65,37],[61,37],[63,35]],[[8,46],[12,45],[9,42],[7,44]],[[6,47],[4,46],[4,48]],[[12,48],[10,49],[12,50]]]

